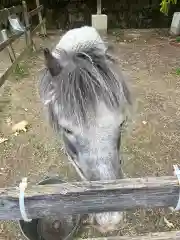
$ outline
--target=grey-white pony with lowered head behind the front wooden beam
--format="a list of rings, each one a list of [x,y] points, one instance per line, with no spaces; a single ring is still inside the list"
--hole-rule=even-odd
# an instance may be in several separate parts
[[[119,150],[131,96],[117,60],[90,26],[66,32],[52,51],[44,49],[44,59],[40,98],[83,180],[123,178]],[[122,218],[121,212],[95,214],[105,232]]]

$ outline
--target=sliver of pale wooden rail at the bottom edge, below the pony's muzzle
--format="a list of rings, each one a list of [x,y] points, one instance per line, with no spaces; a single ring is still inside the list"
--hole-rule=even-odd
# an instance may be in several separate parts
[[[100,238],[84,238],[76,240],[180,240],[179,231],[148,233],[138,236],[116,236],[116,237],[100,237]]]

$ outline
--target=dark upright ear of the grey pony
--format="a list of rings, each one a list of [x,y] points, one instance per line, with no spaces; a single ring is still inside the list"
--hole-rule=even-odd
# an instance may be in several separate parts
[[[52,76],[57,76],[61,72],[61,66],[48,48],[44,49],[45,64]]]

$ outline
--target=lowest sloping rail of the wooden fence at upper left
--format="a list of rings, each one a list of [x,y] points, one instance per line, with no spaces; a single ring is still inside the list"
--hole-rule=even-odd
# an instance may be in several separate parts
[[[31,51],[31,45],[27,46],[24,51],[16,58],[16,60],[12,63],[12,65],[4,72],[4,74],[0,77],[0,87],[4,84],[8,76],[12,73],[12,71],[17,67],[18,63]],[[0,190],[1,192],[1,190]],[[1,197],[0,197],[0,205],[1,205]]]

